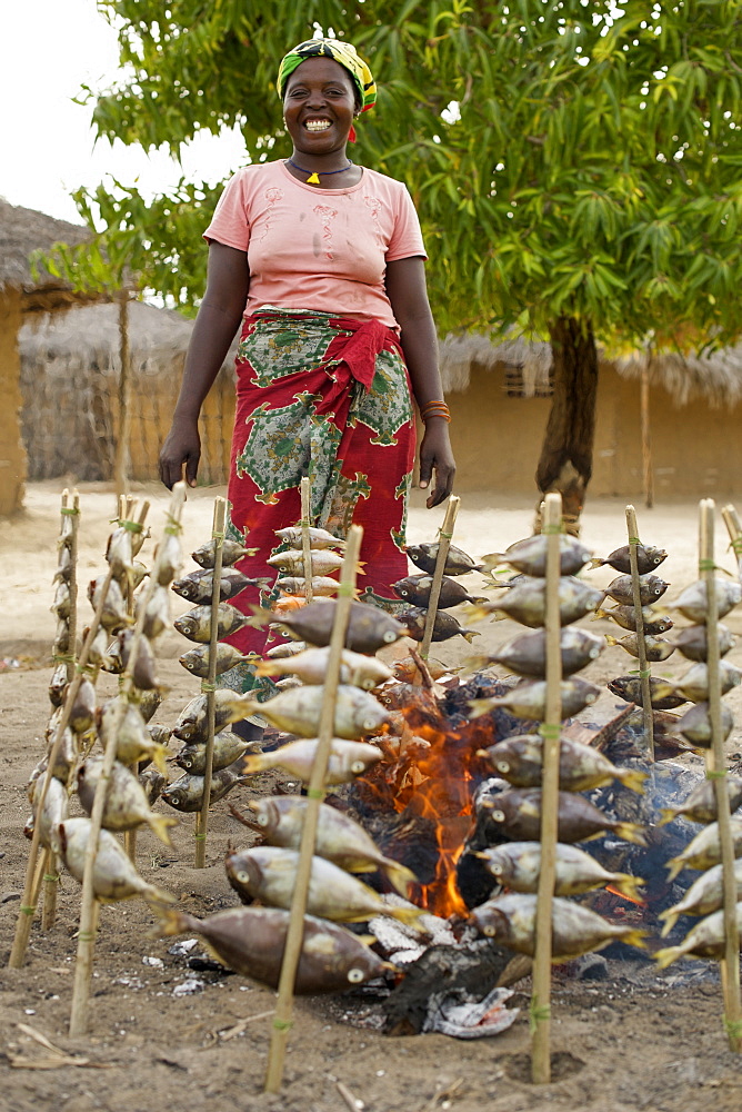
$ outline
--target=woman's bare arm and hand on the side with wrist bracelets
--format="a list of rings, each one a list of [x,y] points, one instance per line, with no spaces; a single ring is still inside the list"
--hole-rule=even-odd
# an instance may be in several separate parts
[[[387,296],[400,326],[402,350],[410,371],[412,393],[419,409],[429,401],[441,401],[443,388],[438,369],[438,338],[428,302],[424,259],[414,257],[387,264]],[[430,417],[420,445],[420,487],[424,490],[435,471],[428,509],[440,505],[451,494],[457,465],[443,417]]]

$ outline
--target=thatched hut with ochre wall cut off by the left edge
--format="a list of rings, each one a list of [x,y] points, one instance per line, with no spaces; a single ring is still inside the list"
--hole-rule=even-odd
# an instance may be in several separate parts
[[[33,276],[30,256],[59,241],[80,244],[89,235],[87,228],[0,199],[0,515],[20,508],[27,470],[19,424],[21,321],[90,300],[44,270]]]

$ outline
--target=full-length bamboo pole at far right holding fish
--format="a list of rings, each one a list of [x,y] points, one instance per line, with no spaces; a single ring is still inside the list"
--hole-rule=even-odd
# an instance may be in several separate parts
[[[740,933],[736,926],[736,877],[734,875],[734,840],[729,805],[726,754],[721,723],[721,679],[719,675],[719,608],[714,582],[714,502],[703,498],[700,504],[699,574],[706,585],[706,665],[709,669],[709,718],[712,747],[706,751],[706,776],[713,778],[721,844],[722,891],[724,912],[724,957],[721,963],[724,997],[724,1026],[729,1049],[742,1050],[742,1001],[740,999]]]

